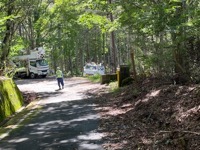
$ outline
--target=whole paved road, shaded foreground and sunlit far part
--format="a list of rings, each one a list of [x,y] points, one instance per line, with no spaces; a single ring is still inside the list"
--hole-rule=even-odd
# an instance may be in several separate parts
[[[39,93],[42,109],[28,123],[0,141],[0,150],[102,150],[99,115],[94,99],[84,92],[99,88],[79,78],[65,79],[58,89],[55,79],[18,80],[22,91]]]

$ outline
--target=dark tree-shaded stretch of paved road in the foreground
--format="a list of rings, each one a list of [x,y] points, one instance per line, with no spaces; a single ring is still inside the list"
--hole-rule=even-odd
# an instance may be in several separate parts
[[[96,107],[93,99],[45,104],[37,116],[2,140],[0,149],[101,150]]]

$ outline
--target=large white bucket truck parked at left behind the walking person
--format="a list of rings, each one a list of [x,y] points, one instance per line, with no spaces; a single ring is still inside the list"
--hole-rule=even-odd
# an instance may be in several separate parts
[[[45,78],[49,72],[49,66],[44,59],[45,50],[42,47],[35,48],[30,55],[14,56],[12,61],[16,67],[17,77]]]

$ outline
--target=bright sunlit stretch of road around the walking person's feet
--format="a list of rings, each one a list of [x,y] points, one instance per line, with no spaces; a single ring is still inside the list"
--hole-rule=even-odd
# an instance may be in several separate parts
[[[31,82],[28,82],[31,81]],[[17,81],[21,82],[21,81]],[[39,104],[60,103],[86,98],[84,91],[95,88],[94,85],[86,85],[88,81],[70,81],[65,79],[65,88],[58,90],[56,80],[25,80],[25,84],[18,84],[21,91],[32,91],[39,94]]]

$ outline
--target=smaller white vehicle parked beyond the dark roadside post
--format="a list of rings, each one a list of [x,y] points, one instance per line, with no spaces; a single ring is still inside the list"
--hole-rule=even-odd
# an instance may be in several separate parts
[[[88,63],[84,66],[83,75],[95,75],[95,74],[104,75],[105,67],[102,66],[101,64],[97,65],[95,63]]]

